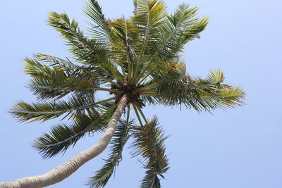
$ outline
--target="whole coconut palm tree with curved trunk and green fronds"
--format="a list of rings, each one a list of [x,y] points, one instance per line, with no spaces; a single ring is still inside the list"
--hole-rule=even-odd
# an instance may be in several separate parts
[[[168,170],[166,136],[157,118],[146,118],[143,108],[164,105],[212,111],[243,104],[245,93],[224,84],[221,70],[212,70],[205,79],[186,73],[180,52],[186,43],[199,38],[208,20],[195,17],[197,8],[181,4],[168,15],[163,1],[135,0],[134,5],[132,17],[109,20],[97,1],[89,1],[85,7],[91,20],[88,37],[66,13],[49,14],[49,25],[66,39],[73,58],[46,54],[25,58],[25,73],[31,77],[28,87],[38,102],[20,101],[11,113],[20,121],[71,121],[51,127],[35,140],[33,146],[44,158],[64,153],[82,137],[104,133],[94,146],[48,173],[0,183],[0,187],[55,184],[110,143],[109,158],[89,181],[91,187],[104,187],[129,138],[133,139],[132,155],[141,156],[146,169],[141,187],[160,187],[160,177]]]

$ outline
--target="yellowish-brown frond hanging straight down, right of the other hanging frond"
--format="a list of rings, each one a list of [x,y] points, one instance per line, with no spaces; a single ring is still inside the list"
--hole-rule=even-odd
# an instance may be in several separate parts
[[[164,178],[168,170],[168,158],[164,141],[164,131],[158,127],[157,118],[154,117],[143,127],[133,127],[133,156],[142,156],[142,164],[146,169],[146,175],[142,180],[141,187],[159,188],[159,176]]]

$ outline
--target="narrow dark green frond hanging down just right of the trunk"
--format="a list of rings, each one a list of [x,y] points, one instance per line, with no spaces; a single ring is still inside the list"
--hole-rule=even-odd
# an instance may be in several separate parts
[[[97,170],[93,177],[90,178],[88,184],[90,187],[104,187],[109,181],[111,175],[114,173],[116,166],[122,160],[122,151],[123,146],[128,141],[129,138],[129,127],[133,125],[133,121],[120,120],[116,132],[110,144],[110,155],[108,159],[105,159],[106,162],[102,169]]]

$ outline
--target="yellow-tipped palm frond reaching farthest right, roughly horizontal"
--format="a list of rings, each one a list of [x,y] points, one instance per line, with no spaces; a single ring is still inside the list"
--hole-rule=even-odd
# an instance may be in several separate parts
[[[240,87],[224,84],[220,70],[211,71],[207,79],[192,79],[189,75],[170,84],[159,84],[160,101],[166,105],[185,105],[196,111],[231,108],[244,104]]]

